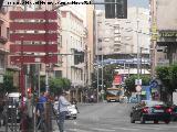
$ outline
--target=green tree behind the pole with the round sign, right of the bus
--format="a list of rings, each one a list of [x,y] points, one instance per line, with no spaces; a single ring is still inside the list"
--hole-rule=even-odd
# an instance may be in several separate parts
[[[132,75],[129,78],[126,78],[125,79],[125,86],[126,86],[126,90],[128,92],[134,92],[136,91],[135,89],[135,79],[137,79],[137,75]],[[150,81],[150,76],[148,75],[140,75],[139,78],[142,79],[142,85],[143,86],[147,86],[149,85],[149,81]]]

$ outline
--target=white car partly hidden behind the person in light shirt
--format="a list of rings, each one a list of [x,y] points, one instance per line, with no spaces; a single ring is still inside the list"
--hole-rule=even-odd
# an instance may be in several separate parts
[[[59,101],[55,101],[53,106],[55,114],[59,114],[58,106],[59,106]],[[70,105],[67,107],[67,110],[69,112],[66,114],[66,118],[76,119],[77,110],[75,108],[75,105]]]

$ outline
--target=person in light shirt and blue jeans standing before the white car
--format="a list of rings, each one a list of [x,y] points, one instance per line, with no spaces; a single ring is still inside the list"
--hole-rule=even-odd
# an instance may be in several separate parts
[[[65,98],[66,92],[65,91],[60,91],[59,92],[59,130],[60,132],[64,132],[64,120],[65,117],[69,112],[67,110],[67,106],[70,106],[71,103],[66,100]]]

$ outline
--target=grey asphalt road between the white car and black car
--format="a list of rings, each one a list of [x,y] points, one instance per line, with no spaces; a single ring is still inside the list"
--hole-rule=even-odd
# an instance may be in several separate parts
[[[77,119],[65,121],[65,132],[177,132],[177,122],[132,124],[131,107],[118,102],[80,105]],[[59,132],[56,125],[55,132]]]

